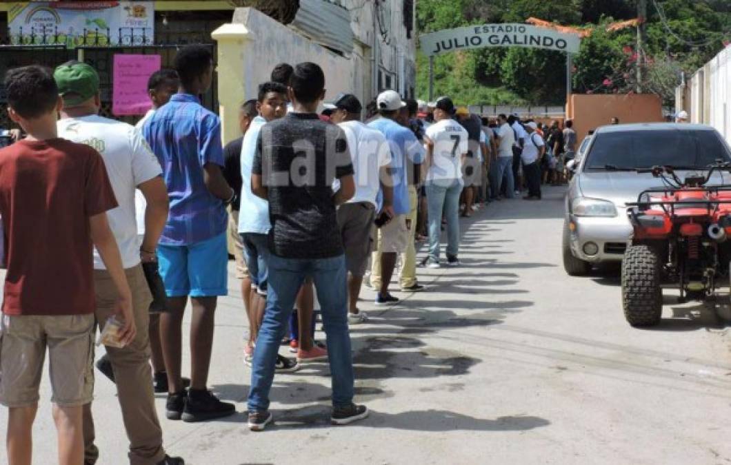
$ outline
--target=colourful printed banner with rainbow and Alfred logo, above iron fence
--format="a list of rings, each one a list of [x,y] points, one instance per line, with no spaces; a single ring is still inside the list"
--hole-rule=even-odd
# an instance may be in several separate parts
[[[10,4],[13,45],[150,45],[154,1],[23,1]]]

